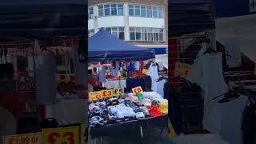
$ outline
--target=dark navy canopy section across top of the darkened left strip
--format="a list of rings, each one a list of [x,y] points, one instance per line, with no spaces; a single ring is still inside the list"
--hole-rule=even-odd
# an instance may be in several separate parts
[[[87,1],[2,0],[0,38],[86,34]]]

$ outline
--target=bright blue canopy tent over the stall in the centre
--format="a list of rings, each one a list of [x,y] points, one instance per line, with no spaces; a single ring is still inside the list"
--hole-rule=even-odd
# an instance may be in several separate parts
[[[130,45],[105,30],[88,39],[88,61],[142,61],[154,58],[154,50]]]

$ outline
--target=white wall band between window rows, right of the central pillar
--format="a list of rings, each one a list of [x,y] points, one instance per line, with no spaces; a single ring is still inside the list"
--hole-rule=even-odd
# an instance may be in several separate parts
[[[129,17],[129,26],[165,28],[164,18]]]

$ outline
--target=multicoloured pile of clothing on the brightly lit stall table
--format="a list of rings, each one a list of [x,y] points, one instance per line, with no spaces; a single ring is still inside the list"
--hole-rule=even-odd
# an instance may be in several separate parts
[[[157,96],[153,96],[156,94]],[[115,122],[141,120],[168,114],[168,100],[157,93],[128,94],[126,98],[110,98],[106,102],[92,102],[89,106],[90,126],[104,126]]]

